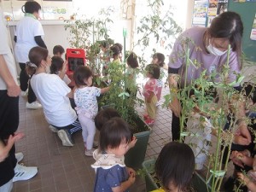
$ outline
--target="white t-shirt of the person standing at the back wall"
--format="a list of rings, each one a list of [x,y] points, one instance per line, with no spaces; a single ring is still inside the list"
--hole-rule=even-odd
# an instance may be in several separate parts
[[[39,20],[25,16],[17,24],[15,36],[17,36],[15,44],[16,61],[26,63],[29,61],[28,53],[30,49],[38,46],[35,36],[44,36],[43,26]]]

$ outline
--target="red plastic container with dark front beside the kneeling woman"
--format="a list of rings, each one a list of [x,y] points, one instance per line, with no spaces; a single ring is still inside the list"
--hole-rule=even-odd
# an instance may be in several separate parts
[[[67,76],[71,79],[70,87],[74,87],[73,72],[79,66],[86,65],[86,53],[84,49],[67,49]]]

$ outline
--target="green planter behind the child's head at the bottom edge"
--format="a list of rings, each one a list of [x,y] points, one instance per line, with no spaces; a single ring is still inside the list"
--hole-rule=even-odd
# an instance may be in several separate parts
[[[159,187],[154,182],[154,179],[150,174],[154,172],[154,162],[155,160],[145,160],[143,162],[143,170],[146,172],[145,173],[146,189],[148,192],[154,189],[159,189]],[[211,191],[211,187],[207,186],[205,179],[202,178],[201,175],[199,175],[197,172],[195,172],[192,178],[192,186],[196,192]]]

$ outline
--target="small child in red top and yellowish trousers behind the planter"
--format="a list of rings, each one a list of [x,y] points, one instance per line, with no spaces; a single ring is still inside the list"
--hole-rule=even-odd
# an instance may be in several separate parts
[[[147,114],[144,114],[144,119],[146,124],[153,125],[156,114],[156,95],[158,90],[157,79],[160,77],[160,67],[154,64],[149,64],[145,70],[148,81],[143,90],[147,109]]]

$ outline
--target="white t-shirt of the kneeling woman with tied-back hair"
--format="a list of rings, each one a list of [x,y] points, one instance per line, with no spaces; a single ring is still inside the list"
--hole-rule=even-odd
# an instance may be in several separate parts
[[[55,126],[67,126],[77,119],[67,93],[71,90],[56,74],[39,73],[32,76],[32,89],[44,108],[47,122]]]

